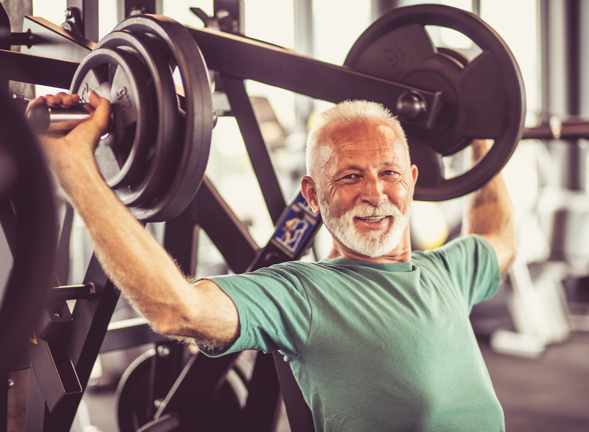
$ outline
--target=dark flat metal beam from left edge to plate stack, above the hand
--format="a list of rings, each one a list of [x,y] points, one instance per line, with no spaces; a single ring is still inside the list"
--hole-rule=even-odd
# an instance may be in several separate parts
[[[5,78],[21,83],[69,89],[80,63],[40,55],[0,50],[0,64]]]

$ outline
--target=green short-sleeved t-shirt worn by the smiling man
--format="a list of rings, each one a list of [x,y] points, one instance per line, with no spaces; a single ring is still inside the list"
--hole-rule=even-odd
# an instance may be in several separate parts
[[[239,312],[224,354],[284,354],[317,431],[504,431],[469,322],[499,284],[482,237],[409,263],[292,261],[209,279]]]

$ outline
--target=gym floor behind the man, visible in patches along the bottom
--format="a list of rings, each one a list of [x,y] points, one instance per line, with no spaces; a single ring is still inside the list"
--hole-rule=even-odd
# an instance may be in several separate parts
[[[497,354],[484,337],[479,346],[507,432],[589,431],[589,332],[571,333],[564,343],[548,346],[540,359]],[[94,426],[84,432],[117,431],[113,390],[89,391],[84,401],[89,417],[82,424],[89,420]],[[288,431],[283,421],[277,432]]]

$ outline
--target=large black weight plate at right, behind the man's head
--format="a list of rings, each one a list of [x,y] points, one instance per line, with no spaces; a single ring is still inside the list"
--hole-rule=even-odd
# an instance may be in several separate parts
[[[482,53],[468,62],[437,50],[426,25],[461,32]],[[525,93],[517,62],[497,32],[470,12],[444,5],[393,9],[360,35],[344,64],[380,78],[442,91],[442,111],[433,129],[403,124],[419,169],[415,199],[442,201],[480,188],[501,171],[521,137]],[[442,156],[477,138],[495,143],[477,166],[446,179]]]

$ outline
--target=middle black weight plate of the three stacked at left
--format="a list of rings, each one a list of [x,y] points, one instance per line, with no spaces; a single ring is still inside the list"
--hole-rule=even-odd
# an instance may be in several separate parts
[[[96,48],[118,48],[128,50],[136,55],[145,66],[147,83],[154,101],[153,122],[156,126],[153,148],[147,149],[147,163],[143,164],[140,184],[137,186],[145,191],[143,196],[155,198],[165,191],[167,172],[173,172],[177,161],[174,151],[177,131],[180,127],[178,119],[178,100],[168,65],[168,55],[163,42],[148,34],[133,33],[127,30],[113,31],[98,42]],[[147,200],[149,201],[149,200]],[[134,202],[134,207],[145,204]]]

